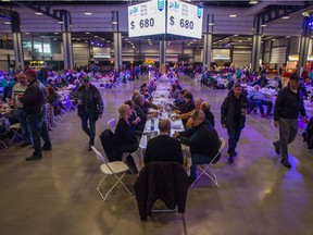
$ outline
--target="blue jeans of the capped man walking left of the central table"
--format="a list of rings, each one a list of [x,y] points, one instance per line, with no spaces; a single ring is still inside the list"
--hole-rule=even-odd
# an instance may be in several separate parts
[[[89,127],[88,127],[89,121]],[[83,131],[89,136],[89,146],[95,145],[95,136],[96,136],[96,116],[91,109],[84,109],[82,116],[82,127]]]

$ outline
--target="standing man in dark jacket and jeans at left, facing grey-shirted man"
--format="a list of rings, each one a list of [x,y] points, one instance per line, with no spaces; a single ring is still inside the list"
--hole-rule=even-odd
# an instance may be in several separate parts
[[[42,150],[50,151],[52,149],[50,136],[47,129],[45,120],[45,100],[46,89],[45,86],[37,81],[37,73],[34,70],[26,71],[26,78],[28,82],[24,96],[17,95],[18,99],[23,102],[24,110],[27,113],[27,122],[32,132],[34,141],[33,156],[26,158],[26,161],[35,161],[42,159]],[[45,144],[41,148],[42,137]]]

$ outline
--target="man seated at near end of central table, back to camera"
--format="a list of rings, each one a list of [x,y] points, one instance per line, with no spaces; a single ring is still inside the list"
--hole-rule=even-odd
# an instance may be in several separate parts
[[[183,151],[180,143],[170,136],[170,120],[159,122],[160,135],[148,141],[145,164],[151,161],[175,161],[183,164]]]

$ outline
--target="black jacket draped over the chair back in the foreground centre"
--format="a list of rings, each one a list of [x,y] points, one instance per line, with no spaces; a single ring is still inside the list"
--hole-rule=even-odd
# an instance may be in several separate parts
[[[163,200],[170,209],[178,206],[178,212],[185,212],[188,176],[183,165],[177,162],[148,163],[140,171],[134,188],[141,220],[151,214],[158,199]]]

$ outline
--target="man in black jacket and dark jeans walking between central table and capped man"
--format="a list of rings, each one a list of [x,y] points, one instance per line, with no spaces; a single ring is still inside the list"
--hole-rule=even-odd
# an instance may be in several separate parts
[[[223,101],[221,107],[221,123],[223,128],[227,128],[228,133],[228,162],[233,163],[237,156],[236,147],[240,138],[240,134],[246,123],[247,109],[249,101],[242,95],[240,84],[235,84],[234,89]]]

